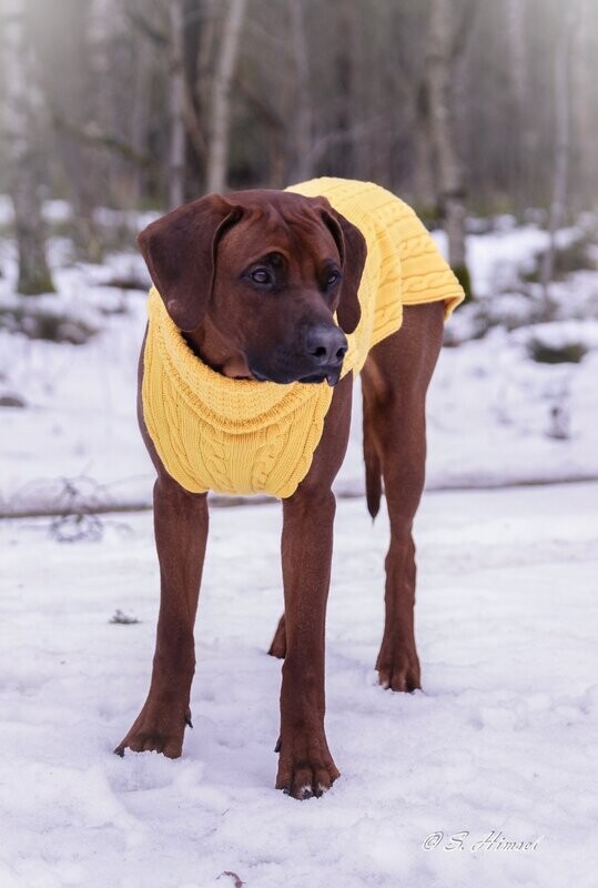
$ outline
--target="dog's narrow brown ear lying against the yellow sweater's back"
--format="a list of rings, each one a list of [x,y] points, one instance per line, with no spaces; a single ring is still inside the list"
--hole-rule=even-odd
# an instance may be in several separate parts
[[[324,210],[324,221],[336,241],[343,264],[341,297],[336,316],[344,332],[353,333],[362,316],[357,291],[367,256],[365,238],[358,228],[333,210],[330,204]]]

